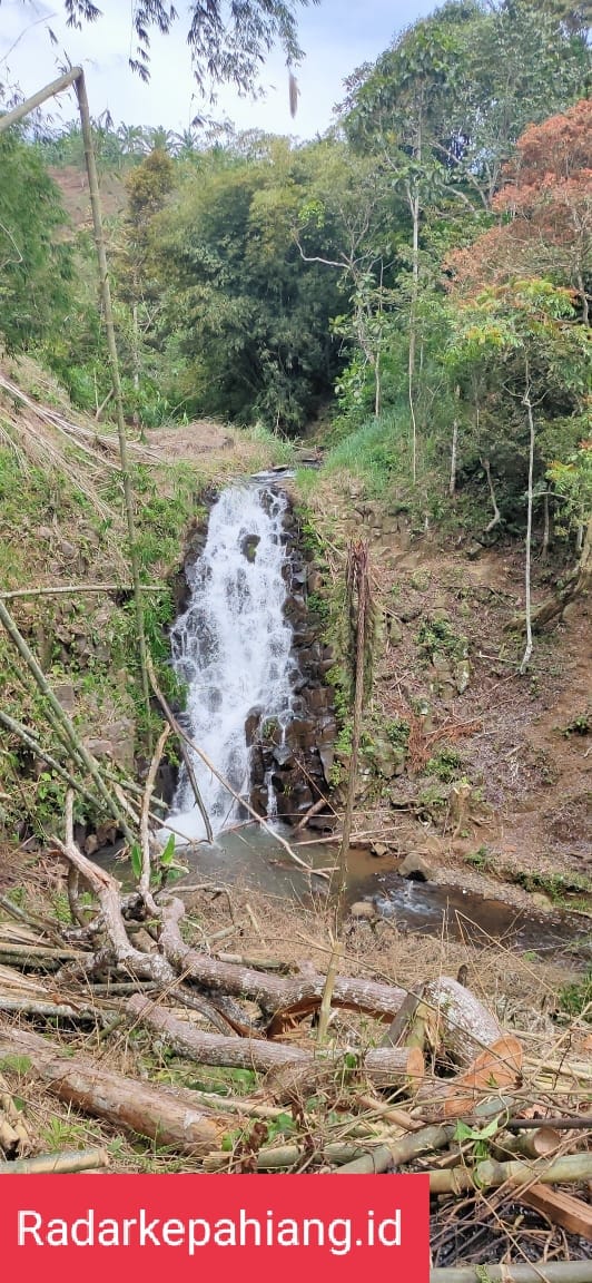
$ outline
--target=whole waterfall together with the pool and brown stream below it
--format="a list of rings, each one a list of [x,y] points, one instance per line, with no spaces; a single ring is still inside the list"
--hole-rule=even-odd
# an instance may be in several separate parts
[[[250,715],[273,718],[283,733],[293,709],[292,629],[283,612],[286,508],[284,493],[265,476],[222,493],[210,512],[204,552],[187,570],[187,608],[172,630],[173,666],[188,692],[185,726],[241,797],[249,794]],[[267,894],[310,903],[309,879],[273,835],[255,825],[228,831],[241,819],[241,806],[192,756],[215,843],[192,845],[202,842],[205,829],[183,769],[168,822],[187,847],[188,880],[197,872],[200,879],[242,881]],[[273,789],[267,783],[273,822]],[[287,830],[286,837],[290,840],[293,834]],[[327,845],[308,845],[305,854],[315,867],[334,861],[334,849]],[[327,894],[327,881],[313,878],[313,894]],[[543,921],[461,888],[410,883],[363,851],[350,853],[349,901],[355,899],[372,899],[381,916],[404,930],[446,930],[483,944],[504,938],[518,948],[550,952],[566,939],[566,920],[560,915]]]

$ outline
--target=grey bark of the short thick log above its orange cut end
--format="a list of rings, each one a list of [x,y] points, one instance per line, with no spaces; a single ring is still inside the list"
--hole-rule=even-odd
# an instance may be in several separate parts
[[[450,976],[440,976],[427,984],[422,1001],[431,1007],[433,1046],[463,1069],[470,1069],[482,1051],[502,1038],[501,1026],[491,1011],[470,989]]]

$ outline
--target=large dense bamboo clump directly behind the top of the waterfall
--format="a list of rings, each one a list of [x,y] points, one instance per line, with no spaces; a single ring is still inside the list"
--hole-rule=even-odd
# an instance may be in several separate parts
[[[250,144],[204,154],[156,219],[161,323],[190,363],[179,393],[193,412],[295,431],[337,373],[337,281],[304,264],[292,236],[325,153]]]

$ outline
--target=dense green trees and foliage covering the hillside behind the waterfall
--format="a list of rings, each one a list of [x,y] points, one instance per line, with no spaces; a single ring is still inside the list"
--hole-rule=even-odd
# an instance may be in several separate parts
[[[292,5],[241,8],[292,38]],[[320,418],[329,467],[396,488],[427,520],[454,497],[474,529],[492,493],[496,525],[524,527],[532,462],[534,514],[555,497],[561,530],[580,529],[586,14],[448,0],[352,73],[336,127],[305,145],[96,122],[129,420],[214,414],[295,435]],[[263,47],[267,28],[251,31]],[[79,128],[37,124],[0,163],[4,335],[95,411],[109,375],[92,244],[85,225],[55,235],[45,171],[82,168]]]

